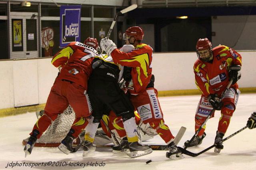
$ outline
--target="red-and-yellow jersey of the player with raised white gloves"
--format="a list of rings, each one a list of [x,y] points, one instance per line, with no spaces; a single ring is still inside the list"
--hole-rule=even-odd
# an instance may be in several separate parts
[[[129,89],[132,95],[144,91],[152,76],[152,52],[153,49],[144,43],[135,47],[129,53],[114,49],[111,53],[114,63],[132,67],[133,90]]]

